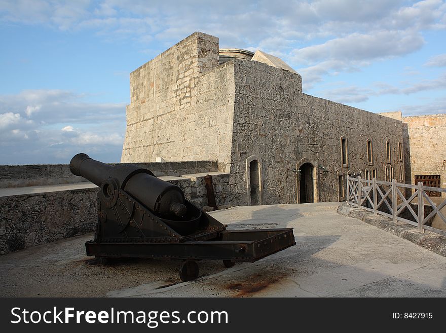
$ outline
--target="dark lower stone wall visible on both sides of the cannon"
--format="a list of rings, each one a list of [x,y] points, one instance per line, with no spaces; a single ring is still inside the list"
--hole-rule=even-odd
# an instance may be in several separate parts
[[[171,162],[170,162],[171,163]],[[212,174],[218,205],[228,205],[229,174]],[[204,176],[161,177],[180,187],[186,199],[207,205]],[[0,197],[0,254],[94,231],[99,188]]]

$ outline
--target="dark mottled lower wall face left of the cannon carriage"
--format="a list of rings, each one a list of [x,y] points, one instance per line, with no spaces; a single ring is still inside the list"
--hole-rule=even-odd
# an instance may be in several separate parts
[[[97,191],[0,197],[0,254],[93,231]]]

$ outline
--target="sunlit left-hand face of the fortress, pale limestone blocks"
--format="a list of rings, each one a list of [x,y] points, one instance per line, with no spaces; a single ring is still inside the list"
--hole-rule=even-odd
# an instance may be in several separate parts
[[[130,74],[122,162],[227,159],[234,84],[218,50],[196,32]]]

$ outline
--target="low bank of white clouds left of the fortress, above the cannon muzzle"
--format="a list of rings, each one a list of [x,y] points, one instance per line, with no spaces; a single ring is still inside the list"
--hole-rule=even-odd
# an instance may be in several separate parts
[[[79,152],[119,162],[125,104],[86,102],[85,97],[62,90],[0,96],[0,164],[69,163]]]

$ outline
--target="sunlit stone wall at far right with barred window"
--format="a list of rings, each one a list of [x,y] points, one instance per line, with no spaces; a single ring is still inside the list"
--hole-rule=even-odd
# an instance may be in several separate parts
[[[404,117],[403,122],[410,144],[412,183],[415,175],[440,175],[440,185],[446,188],[446,114]]]

